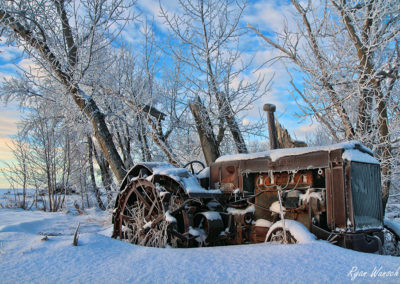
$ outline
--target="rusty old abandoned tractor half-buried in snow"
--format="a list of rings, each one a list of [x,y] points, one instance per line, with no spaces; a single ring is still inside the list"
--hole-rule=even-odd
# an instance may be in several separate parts
[[[113,237],[195,247],[315,236],[357,251],[382,250],[380,166],[359,142],[223,156],[196,172],[198,166],[204,168],[199,161],[185,168],[135,165],[116,200]]]

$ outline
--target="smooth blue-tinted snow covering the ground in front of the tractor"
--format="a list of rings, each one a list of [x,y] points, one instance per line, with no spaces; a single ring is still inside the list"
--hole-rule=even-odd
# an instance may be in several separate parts
[[[324,241],[159,249],[111,231],[109,212],[1,208],[0,283],[400,283],[400,258]]]

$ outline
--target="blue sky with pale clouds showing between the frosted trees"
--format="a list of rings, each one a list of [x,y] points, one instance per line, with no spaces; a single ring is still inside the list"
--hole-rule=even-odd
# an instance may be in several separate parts
[[[169,11],[177,11],[176,2],[176,0],[162,1],[163,5],[165,5]],[[144,18],[150,21],[154,20],[158,33],[167,31],[165,24],[159,17],[160,10],[158,0],[139,0],[136,9],[141,13],[141,20]],[[294,25],[294,23],[290,21],[291,9],[288,1],[249,1],[248,9],[243,15],[242,25],[247,26],[247,24],[251,24],[259,28],[263,33],[268,33],[273,30],[279,31],[282,29],[282,21],[285,15],[287,16],[289,27]],[[133,47],[137,44],[135,38],[137,38],[139,34],[139,27],[140,24],[136,22],[128,26],[127,31],[123,33],[124,38]],[[250,45],[246,47],[243,56],[245,59],[246,56],[254,56],[255,67],[262,66],[266,60],[277,55],[276,51],[267,48],[265,42],[254,33],[247,35],[245,40],[248,41]],[[0,80],[14,75],[18,71],[18,68],[29,68],[32,65],[32,62],[28,58],[21,57],[21,50],[15,47],[7,47],[3,42],[4,38],[0,41]],[[253,72],[245,74],[245,76],[251,80],[259,74],[265,75],[266,81],[274,75],[272,86],[270,92],[257,102],[251,111],[245,114],[244,120],[258,119],[260,111],[262,112],[262,105],[264,103],[274,103],[277,106],[277,116],[280,122],[284,124],[297,139],[305,139],[307,135],[315,130],[317,124],[311,124],[310,121],[299,121],[295,116],[295,112],[299,110],[291,94],[288,92],[289,76],[286,73],[285,66],[279,62],[273,66],[264,65],[257,71],[254,69]],[[301,76],[295,79],[301,84]],[[0,167],[4,166],[4,162],[12,159],[7,144],[11,144],[10,136],[16,133],[20,116],[21,114],[18,107],[14,103],[8,104],[7,106],[0,104]],[[245,121],[242,121],[242,123],[245,123]],[[267,132],[267,128],[265,128],[265,132]],[[0,188],[7,186],[7,182],[0,175]]]

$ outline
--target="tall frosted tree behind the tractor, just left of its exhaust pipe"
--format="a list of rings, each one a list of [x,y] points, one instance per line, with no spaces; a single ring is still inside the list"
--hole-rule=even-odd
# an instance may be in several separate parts
[[[219,146],[226,137],[226,129],[231,133],[236,151],[247,152],[238,113],[262,94],[259,92],[262,80],[245,83],[240,79],[247,65],[235,68],[240,59],[239,38],[243,33],[239,21],[245,7],[245,1],[213,0],[179,1],[180,12],[175,14],[161,7],[161,16],[171,32],[170,53],[184,64],[181,69],[187,74],[191,111],[207,163],[221,152]],[[180,48],[176,48],[177,43]],[[236,87],[234,82],[238,83]],[[199,119],[201,116],[204,119]],[[210,149],[216,152],[211,153]]]

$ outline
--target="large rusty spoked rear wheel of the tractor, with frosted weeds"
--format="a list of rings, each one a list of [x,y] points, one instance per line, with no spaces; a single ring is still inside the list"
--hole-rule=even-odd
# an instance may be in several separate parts
[[[184,222],[179,210],[183,203],[182,196],[163,187],[145,179],[133,180],[121,192],[114,210],[113,237],[143,246],[178,247],[173,232]]]

